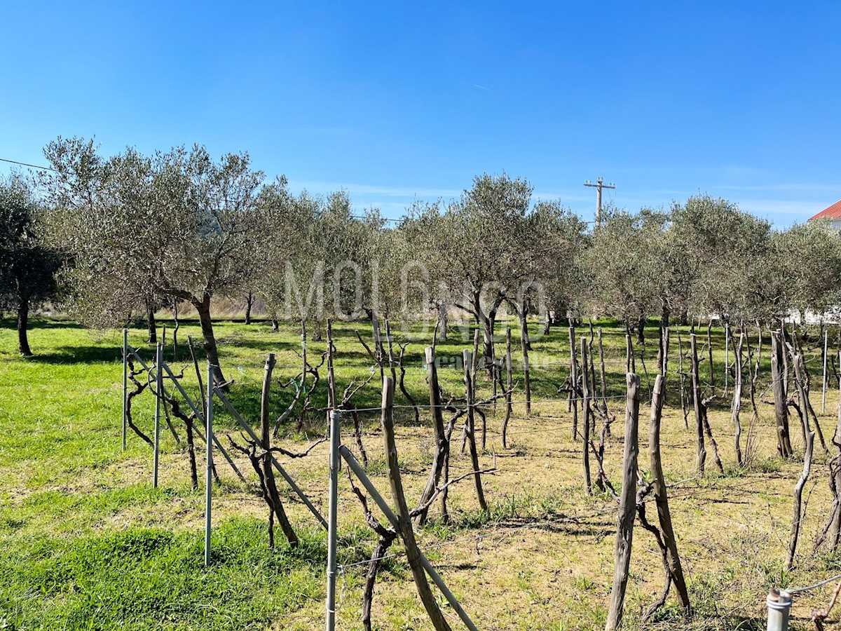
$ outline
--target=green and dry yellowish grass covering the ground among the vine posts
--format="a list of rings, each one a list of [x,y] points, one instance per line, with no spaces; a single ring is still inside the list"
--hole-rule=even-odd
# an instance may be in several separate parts
[[[165,322],[170,325],[172,322]],[[302,544],[291,549],[276,531],[278,545],[267,548],[266,508],[257,495],[257,480],[248,463],[237,458],[249,477],[242,484],[225,461],[217,458],[221,484],[214,490],[213,564],[204,568],[204,489],[189,485],[183,444],[163,432],[161,485],[151,485],[151,449],[134,434],[122,451],[120,444],[120,333],[96,333],[61,320],[35,318],[30,343],[34,358],[16,353],[13,321],[0,328],[0,628],[7,629],[309,629],[323,626],[325,597],[325,533],[291,492],[280,487],[290,518]],[[513,325],[513,323],[511,323]],[[606,450],[607,473],[618,485],[621,466],[624,402],[624,331],[605,326],[607,380],[611,411],[617,415]],[[353,333],[370,337],[364,323],[336,326],[336,379],[340,390],[370,374],[371,361]],[[519,339],[514,334],[514,356]],[[537,331],[537,323],[534,324]],[[711,407],[711,426],[726,474],[715,470],[711,453],[708,475],[695,478],[695,433],[685,427],[677,388],[677,331],[673,329],[669,363],[669,393],[664,416],[663,451],[666,475],[674,483],[672,514],[679,538],[690,597],[696,612],[682,618],[669,598],[654,618],[655,628],[764,628],[764,595],[770,586],[808,584],[834,573],[841,558],[813,553],[812,547],[828,515],[827,456],[816,440],[812,478],[807,484],[807,517],[803,523],[798,565],[782,571],[791,522],[791,490],[802,464],[776,456],[773,407],[760,404],[756,427],[756,456],[747,469],[737,470],[733,455],[733,427],[729,398],[720,396]],[[684,347],[688,331],[680,329]],[[588,331],[581,329],[580,335]],[[706,330],[699,331],[706,342]],[[187,366],[184,384],[198,395],[186,339],[200,337],[198,323],[182,323],[178,358],[173,368]],[[299,371],[299,331],[282,327],[272,332],[256,323],[245,326],[224,321],[217,326],[222,368],[233,379],[230,398],[253,422],[259,413],[262,363],[267,352],[277,353],[278,379]],[[643,400],[656,370],[656,327],[648,331],[644,367],[637,348],[637,372],[642,374]],[[724,375],[723,332],[713,331],[717,392]],[[167,334],[167,360],[172,360],[172,337]],[[753,341],[755,342],[755,340]],[[145,330],[130,330],[130,343],[151,359]],[[423,342],[405,352],[406,385],[422,403],[428,401]],[[472,333],[458,331],[439,344],[439,357],[456,358],[472,346]],[[821,411],[820,350],[807,344],[812,373],[812,405]],[[318,356],[324,342],[310,342],[310,356]],[[501,345],[500,345],[501,347]],[[759,395],[770,380],[769,340],[765,340]],[[553,329],[533,344],[531,416],[521,405],[521,379],[516,375],[517,405],[510,423],[510,445],[502,448],[502,408],[489,411],[488,447],[484,467],[496,464],[499,473],[485,477],[489,511],[480,512],[470,483],[452,489],[452,521],[438,519],[418,533],[426,554],[483,629],[590,629],[604,624],[613,572],[616,516],[609,496],[584,494],[580,445],[571,436],[571,415],[558,394],[568,374],[569,337],[565,328]],[[519,361],[516,361],[519,366]],[[702,364],[701,374],[705,376]],[[325,369],[322,369],[325,377]],[[447,394],[463,395],[461,370],[453,364],[440,369]],[[317,405],[324,405],[326,379]],[[480,396],[490,384],[480,383]],[[354,400],[359,407],[379,403],[378,377]],[[275,387],[276,414],[292,396]],[[770,394],[764,394],[770,400]],[[539,402],[538,402],[539,401]],[[405,399],[397,395],[397,403]],[[828,396],[821,416],[824,434],[834,430],[838,394]],[[154,402],[148,392],[135,400],[135,418],[151,432]],[[217,406],[220,434],[235,432],[235,422]],[[640,467],[648,469],[649,406],[640,412]],[[382,437],[376,410],[360,414],[363,443],[372,458],[369,471],[375,484],[388,490],[384,477]],[[406,493],[413,503],[420,496],[431,462],[431,428],[426,410],[415,422],[408,407],[397,410],[399,456]],[[743,400],[747,431],[750,404]],[[600,422],[599,422],[600,424]],[[792,419],[792,439],[802,452],[800,431]],[[177,427],[183,438],[182,427]],[[298,427],[282,428],[281,444],[302,450],[309,439],[324,433],[323,419],[312,417]],[[458,431],[455,435],[458,438]],[[227,439],[224,441],[227,444]],[[354,444],[346,435],[345,442]],[[201,445],[204,448],[204,445]],[[707,446],[710,452],[709,445]],[[469,458],[454,443],[451,475],[470,470]],[[326,515],[328,460],[326,445],[311,457],[282,459],[284,466]],[[201,466],[201,464],[199,464]],[[595,471],[595,463],[594,463]],[[342,475],[340,497],[340,581],[338,627],[361,628],[360,615],[365,559],[375,536],[365,526],[360,506]],[[399,553],[395,546],[393,552]],[[663,572],[653,537],[637,528],[632,575],[626,601],[629,628],[659,595]],[[812,607],[823,606],[833,586],[796,599],[795,615],[802,628]],[[458,628],[458,619],[445,608]],[[833,618],[834,619],[834,618]],[[411,583],[404,560],[397,554],[383,565],[374,601],[373,620],[382,629],[430,628]],[[797,624],[797,623],[795,623]],[[649,624],[649,627],[652,626]],[[797,628],[797,627],[795,627]],[[831,627],[830,627],[831,628]]]

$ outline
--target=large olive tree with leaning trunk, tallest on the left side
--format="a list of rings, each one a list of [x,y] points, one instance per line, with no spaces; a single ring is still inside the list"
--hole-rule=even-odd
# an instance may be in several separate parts
[[[104,157],[93,141],[50,142],[44,183],[61,209],[56,237],[73,262],[83,321],[114,326],[145,300],[186,300],[224,382],[211,318],[216,295],[236,294],[260,256],[264,175],[247,154],[219,162],[203,146]]]

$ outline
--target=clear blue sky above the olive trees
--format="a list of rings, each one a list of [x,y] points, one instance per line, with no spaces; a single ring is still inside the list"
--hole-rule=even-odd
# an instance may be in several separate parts
[[[841,199],[841,3],[455,4],[5,3],[0,157],[198,142],[392,217],[503,170],[587,219],[598,176],[777,225]]]

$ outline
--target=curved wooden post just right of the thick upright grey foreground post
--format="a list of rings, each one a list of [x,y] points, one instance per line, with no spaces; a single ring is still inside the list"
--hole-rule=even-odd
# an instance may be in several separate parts
[[[665,377],[658,375],[654,380],[654,391],[651,398],[651,427],[648,432],[648,462],[651,466],[653,478],[654,501],[657,504],[657,517],[660,522],[660,529],[663,531],[664,544],[667,553],[666,560],[669,565],[674,588],[678,592],[680,607],[685,611],[690,609],[689,590],[686,589],[686,581],[683,575],[683,567],[680,565],[678,554],[677,538],[674,537],[672,527],[672,516],[669,511],[669,496],[666,491],[666,480],[663,475],[663,460],[660,458],[660,421],[663,418],[663,405],[665,401]]]

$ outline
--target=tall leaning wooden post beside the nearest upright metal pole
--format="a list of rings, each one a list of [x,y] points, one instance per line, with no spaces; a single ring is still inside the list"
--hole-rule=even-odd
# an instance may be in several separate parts
[[[467,365],[467,364],[465,364]],[[403,480],[400,478],[400,469],[397,459],[397,444],[394,440],[394,379],[388,375],[383,378],[383,414],[381,416],[383,426],[383,447],[385,448],[385,464],[389,473],[389,485],[391,485],[391,496],[396,508],[396,517],[399,524],[400,538],[403,539],[406,549],[406,559],[415,578],[415,586],[429,614],[433,626],[437,631],[450,631],[450,625],[444,618],[444,614],[438,607],[438,602],[432,594],[429,581],[426,580],[426,571],[421,562],[421,551],[415,542],[415,531],[412,530],[409,507],[406,505],[406,498],[403,492]],[[473,440],[473,437],[471,437]]]

